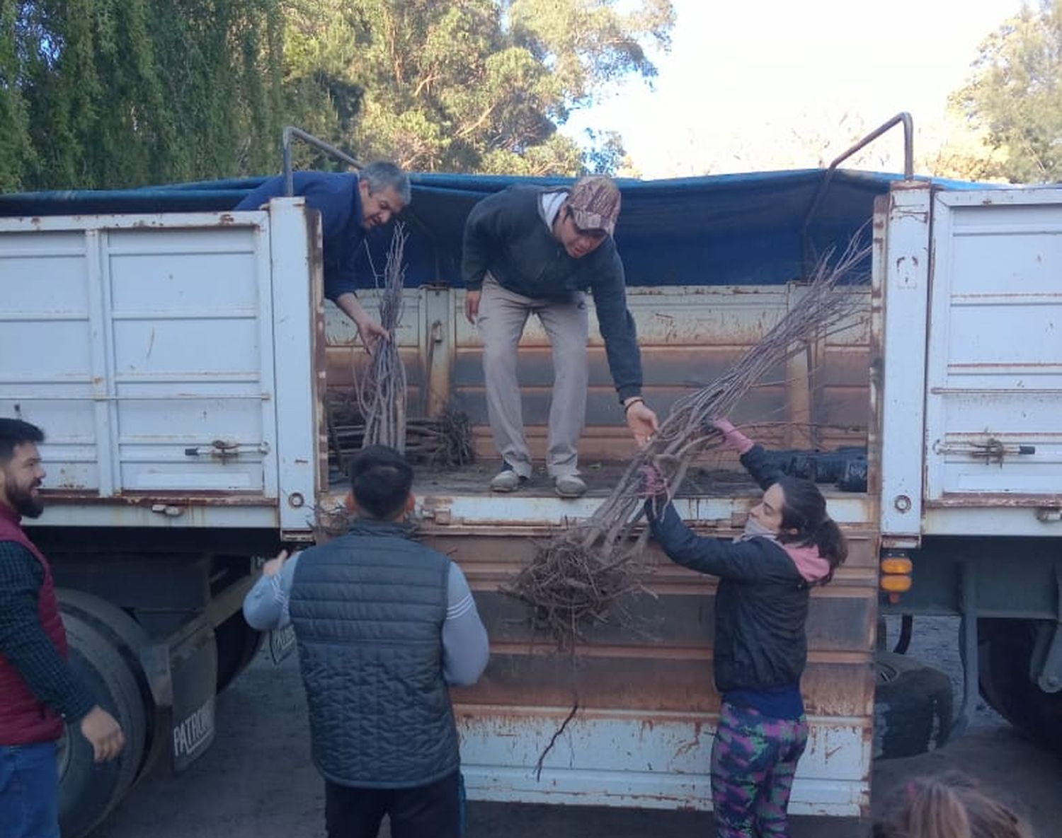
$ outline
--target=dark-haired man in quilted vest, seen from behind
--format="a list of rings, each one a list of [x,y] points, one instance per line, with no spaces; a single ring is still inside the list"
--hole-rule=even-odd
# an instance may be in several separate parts
[[[475,683],[486,630],[461,569],[411,539],[413,470],[371,446],[350,461],[349,531],[262,569],[243,614],[295,631],[328,838],[458,838],[448,684]]]

